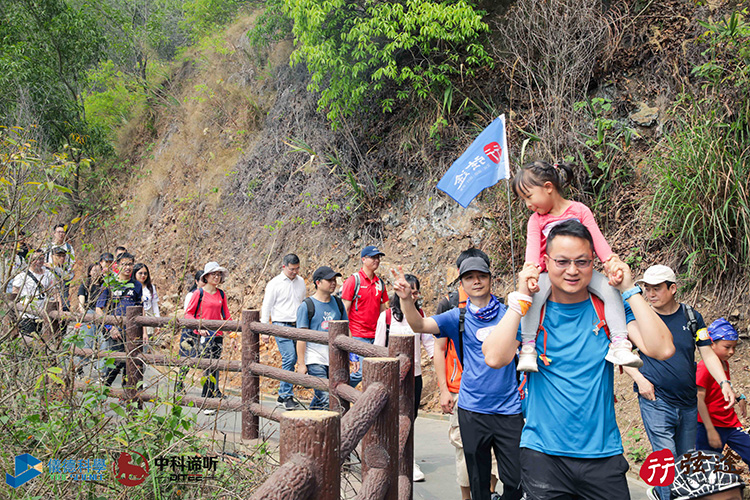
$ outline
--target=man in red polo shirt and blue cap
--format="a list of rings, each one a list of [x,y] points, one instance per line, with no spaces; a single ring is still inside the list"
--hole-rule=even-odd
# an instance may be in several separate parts
[[[341,289],[341,299],[349,318],[349,331],[352,337],[368,342],[375,340],[375,327],[380,313],[388,307],[388,292],[383,281],[375,275],[380,267],[380,258],[385,254],[378,247],[370,245],[362,249],[362,269],[349,276]],[[356,354],[349,355],[355,371],[349,377],[352,387],[362,380],[362,366]]]

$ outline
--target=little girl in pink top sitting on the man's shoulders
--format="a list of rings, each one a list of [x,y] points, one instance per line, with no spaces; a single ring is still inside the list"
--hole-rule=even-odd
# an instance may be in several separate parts
[[[591,233],[594,239],[594,250],[604,263],[607,278],[594,272],[589,284],[589,291],[597,295],[604,302],[604,313],[610,331],[610,348],[605,356],[607,361],[616,365],[639,368],[643,362],[632,351],[632,344],[628,341],[628,331],[625,322],[625,309],[620,293],[610,286],[622,280],[622,261],[612,252],[599,226],[594,220],[591,210],[576,201],[563,197],[563,188],[573,179],[573,170],[566,164],[554,164],[535,161],[524,166],[512,181],[513,192],[526,203],[526,207],[534,212],[529,218],[526,235],[525,266],[535,266],[542,272],[538,280],[531,280],[529,288],[536,294],[534,300],[527,297],[524,307],[529,307],[528,314],[521,320],[521,352],[518,357],[518,371],[535,372],[537,367],[536,336],[539,330],[542,306],[549,298],[550,282],[547,273],[549,265],[560,269],[574,265],[577,269],[588,268],[592,261],[588,259],[554,259],[546,254],[547,235],[549,231],[566,220],[578,220]],[[545,257],[549,260],[546,261]],[[550,360],[542,353],[545,364]]]

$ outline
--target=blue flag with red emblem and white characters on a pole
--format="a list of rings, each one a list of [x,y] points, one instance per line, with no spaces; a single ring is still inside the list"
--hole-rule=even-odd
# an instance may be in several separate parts
[[[437,188],[466,208],[482,190],[509,178],[505,115],[500,115],[453,162]]]

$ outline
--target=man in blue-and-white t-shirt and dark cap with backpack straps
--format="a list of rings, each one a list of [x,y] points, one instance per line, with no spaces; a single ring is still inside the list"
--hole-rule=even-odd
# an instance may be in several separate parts
[[[328,266],[319,267],[313,273],[315,294],[302,302],[297,309],[297,328],[328,331],[331,321],[346,318],[344,302],[332,295],[338,285],[337,273]],[[328,346],[312,342],[297,341],[297,371],[315,377],[328,378]],[[328,409],[328,393],[315,389],[310,402],[311,410]]]

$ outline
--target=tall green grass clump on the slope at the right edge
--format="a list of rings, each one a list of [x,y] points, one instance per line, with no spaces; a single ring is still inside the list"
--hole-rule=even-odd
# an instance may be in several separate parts
[[[702,24],[705,62],[693,74],[703,95],[675,105],[674,133],[653,158],[652,205],[657,236],[687,255],[697,284],[750,269],[750,24],[737,12]]]

